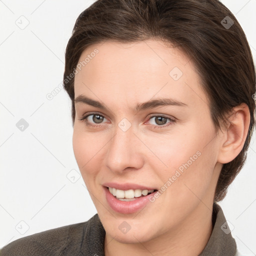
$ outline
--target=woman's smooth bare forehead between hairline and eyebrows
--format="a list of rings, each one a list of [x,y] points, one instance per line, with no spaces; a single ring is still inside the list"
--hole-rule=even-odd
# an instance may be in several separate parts
[[[86,94],[121,103],[169,95],[187,104],[206,102],[193,63],[180,49],[162,41],[93,44],[82,52],[79,63],[75,97]]]

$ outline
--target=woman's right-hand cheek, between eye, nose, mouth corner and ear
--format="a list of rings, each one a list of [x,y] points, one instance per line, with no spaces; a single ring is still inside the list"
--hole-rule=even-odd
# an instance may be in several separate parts
[[[202,194],[211,181],[215,165],[216,148],[210,122],[203,129],[198,123],[188,126],[184,130],[173,130],[173,134],[163,136],[162,139],[159,135],[157,138],[144,138],[145,144],[154,153],[147,159],[154,166],[162,185],[171,178],[170,190],[177,197],[191,193],[189,186],[198,195]]]

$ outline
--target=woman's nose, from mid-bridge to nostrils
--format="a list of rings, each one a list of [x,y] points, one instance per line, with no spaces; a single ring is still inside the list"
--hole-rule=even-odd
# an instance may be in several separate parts
[[[140,169],[143,166],[143,143],[133,133],[132,126],[126,131],[118,126],[107,146],[105,164],[112,172],[121,174],[124,170]]]

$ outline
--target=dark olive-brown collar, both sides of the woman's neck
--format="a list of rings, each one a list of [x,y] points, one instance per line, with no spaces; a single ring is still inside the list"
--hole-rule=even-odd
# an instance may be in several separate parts
[[[212,209],[213,229],[203,251],[198,256],[234,256],[236,243],[227,225],[224,213],[217,203]],[[84,230],[81,253],[83,255],[104,256],[105,229],[98,214],[88,220]]]

